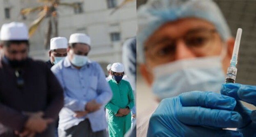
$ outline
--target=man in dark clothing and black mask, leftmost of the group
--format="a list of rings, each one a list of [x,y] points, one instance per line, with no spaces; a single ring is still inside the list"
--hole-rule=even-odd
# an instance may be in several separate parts
[[[54,137],[63,89],[44,62],[28,57],[25,24],[3,24],[0,49],[0,137]]]

